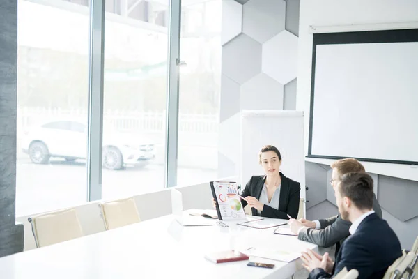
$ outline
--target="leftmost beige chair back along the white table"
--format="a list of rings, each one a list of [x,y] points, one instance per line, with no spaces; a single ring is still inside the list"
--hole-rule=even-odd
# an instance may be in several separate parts
[[[28,220],[32,225],[37,248],[77,239],[84,235],[75,209],[49,212]]]

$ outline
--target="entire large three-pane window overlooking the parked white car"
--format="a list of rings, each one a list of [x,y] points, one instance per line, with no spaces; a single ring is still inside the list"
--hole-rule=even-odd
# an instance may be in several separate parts
[[[100,81],[100,66],[94,64],[91,73],[89,66],[91,61],[102,62],[97,45],[90,57],[91,3],[97,8],[101,2],[19,0],[17,216],[83,204],[89,197],[116,199],[161,190],[166,187],[167,160],[169,166],[177,160],[177,169],[167,167],[169,177],[177,172],[176,185],[216,178],[222,0],[184,1],[182,22],[178,9],[173,9],[173,29],[169,13],[170,5],[179,5],[176,0],[105,2],[103,114],[99,115],[100,104],[89,104],[89,87],[91,80]],[[185,61],[179,66],[180,77],[178,61],[169,68],[167,60],[169,36],[176,33],[177,24],[181,25],[180,57]],[[172,39],[171,50],[176,50],[178,38]],[[180,80],[179,92],[176,86],[170,91],[170,96],[179,96],[178,108],[167,108],[168,73],[173,84]],[[100,100],[98,87],[91,94],[91,100]],[[176,114],[178,146],[173,146],[176,141],[166,142],[167,115],[171,120]],[[100,172],[94,169],[100,156],[92,139],[100,138],[95,123],[101,116],[100,184]],[[172,152],[176,147],[178,157]]]

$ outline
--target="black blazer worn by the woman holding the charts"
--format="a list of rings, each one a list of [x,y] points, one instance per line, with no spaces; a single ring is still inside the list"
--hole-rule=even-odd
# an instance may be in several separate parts
[[[300,183],[288,179],[284,174],[280,172],[281,177],[281,186],[280,186],[280,198],[279,198],[279,208],[274,209],[271,206],[264,204],[263,211],[261,211],[261,216],[268,218],[279,218],[279,219],[288,219],[288,215],[293,218],[297,217],[299,212],[299,195],[300,195]],[[263,185],[265,182],[265,175],[262,176],[252,176],[249,179],[244,190],[242,190],[242,197],[255,197],[260,199],[261,190],[263,190]],[[246,206],[247,202],[244,199],[241,200],[242,206]],[[259,216],[257,209],[251,209],[252,215]]]

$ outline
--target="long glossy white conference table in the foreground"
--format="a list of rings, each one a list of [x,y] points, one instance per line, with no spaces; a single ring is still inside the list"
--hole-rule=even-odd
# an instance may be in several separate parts
[[[214,223],[216,220],[214,221]],[[253,229],[225,222],[183,227],[168,215],[107,232],[0,258],[0,278],[288,278],[301,269],[300,259],[278,262],[274,269],[247,266],[248,261],[215,264],[208,252],[230,248],[317,250],[295,236],[273,234],[275,228]]]

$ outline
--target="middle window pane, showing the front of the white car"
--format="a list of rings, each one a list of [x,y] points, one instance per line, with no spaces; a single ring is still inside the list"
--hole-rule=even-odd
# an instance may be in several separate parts
[[[103,199],[164,188],[169,0],[123,2],[105,18]]]

